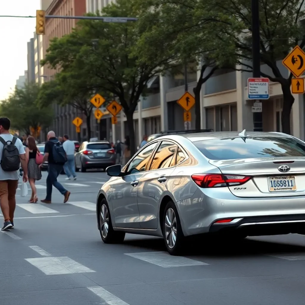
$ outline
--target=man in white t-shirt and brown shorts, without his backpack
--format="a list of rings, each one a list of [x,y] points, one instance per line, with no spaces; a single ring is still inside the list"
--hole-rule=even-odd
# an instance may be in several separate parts
[[[10,143],[14,136],[9,133],[11,122],[6,117],[0,118],[0,137],[3,138],[5,142]],[[21,167],[23,169],[23,181],[27,182],[27,162],[25,159],[25,151],[23,144],[20,139],[16,138],[14,144],[18,149]],[[0,160],[2,158],[2,151],[4,145],[0,142]],[[0,166],[0,206],[2,210],[2,215],[4,217],[4,225],[1,231],[6,231],[14,228],[14,212],[16,208],[16,190],[19,181],[19,170],[15,171],[5,171]]]

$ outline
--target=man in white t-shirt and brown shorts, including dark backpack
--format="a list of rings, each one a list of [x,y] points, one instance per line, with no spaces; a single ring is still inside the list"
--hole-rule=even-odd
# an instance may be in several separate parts
[[[19,181],[20,162],[23,170],[23,181],[27,182],[27,161],[20,139],[9,133],[11,122],[0,118],[0,206],[4,217],[1,231],[14,228],[16,208],[16,190]]]

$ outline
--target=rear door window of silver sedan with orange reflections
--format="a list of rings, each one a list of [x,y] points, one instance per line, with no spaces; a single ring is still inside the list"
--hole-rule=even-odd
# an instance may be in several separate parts
[[[150,165],[150,170],[170,167],[177,145],[173,142],[162,141]]]

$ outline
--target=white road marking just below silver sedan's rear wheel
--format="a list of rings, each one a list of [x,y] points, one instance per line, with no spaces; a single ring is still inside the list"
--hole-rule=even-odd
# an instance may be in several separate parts
[[[172,256],[167,252],[161,251],[124,254],[163,268],[208,265],[206,263],[200,262],[199,260],[192,260],[182,256]]]

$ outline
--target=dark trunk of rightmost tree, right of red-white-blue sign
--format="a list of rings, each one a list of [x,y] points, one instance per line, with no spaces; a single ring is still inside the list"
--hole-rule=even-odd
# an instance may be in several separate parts
[[[282,109],[282,132],[290,135],[290,113],[292,105],[294,103],[294,97],[290,91],[290,81],[285,80],[285,83],[281,84],[283,92],[283,109]]]

